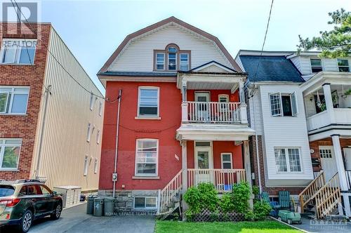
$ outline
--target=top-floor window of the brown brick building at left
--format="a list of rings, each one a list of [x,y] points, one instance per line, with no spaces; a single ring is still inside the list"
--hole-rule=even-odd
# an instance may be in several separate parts
[[[33,65],[37,40],[4,39],[0,63]]]

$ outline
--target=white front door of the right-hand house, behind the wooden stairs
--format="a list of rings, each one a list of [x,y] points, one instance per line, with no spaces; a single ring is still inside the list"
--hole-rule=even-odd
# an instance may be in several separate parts
[[[321,165],[324,171],[326,182],[338,172],[333,147],[319,147],[319,156],[321,157]]]

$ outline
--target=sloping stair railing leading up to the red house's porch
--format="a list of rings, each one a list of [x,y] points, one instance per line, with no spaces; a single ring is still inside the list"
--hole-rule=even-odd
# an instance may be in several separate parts
[[[180,193],[182,189],[182,171],[180,170],[174,178],[168,182],[166,187],[161,190],[160,212],[164,212],[166,206],[171,204],[173,198]]]

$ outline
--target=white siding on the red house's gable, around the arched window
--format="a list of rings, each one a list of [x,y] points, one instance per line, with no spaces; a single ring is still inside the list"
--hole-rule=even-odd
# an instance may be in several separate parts
[[[157,32],[131,41],[112,62],[109,71],[152,72],[154,50],[164,50],[168,44],[176,44],[180,50],[191,51],[192,68],[211,60],[233,68],[213,42],[176,26],[168,26]]]

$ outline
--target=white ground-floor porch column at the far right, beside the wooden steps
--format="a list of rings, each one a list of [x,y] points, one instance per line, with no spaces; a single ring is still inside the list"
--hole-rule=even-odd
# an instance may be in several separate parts
[[[333,140],[333,149],[334,149],[334,154],[336,159],[336,167],[338,168],[340,189],[342,191],[341,194],[343,195],[345,213],[347,216],[351,216],[350,199],[347,193],[343,193],[343,191],[348,191],[348,187],[347,187],[347,179],[346,179],[345,167],[343,162],[343,154],[341,153],[341,147],[340,147],[340,135],[333,134],[331,135],[331,139]]]

